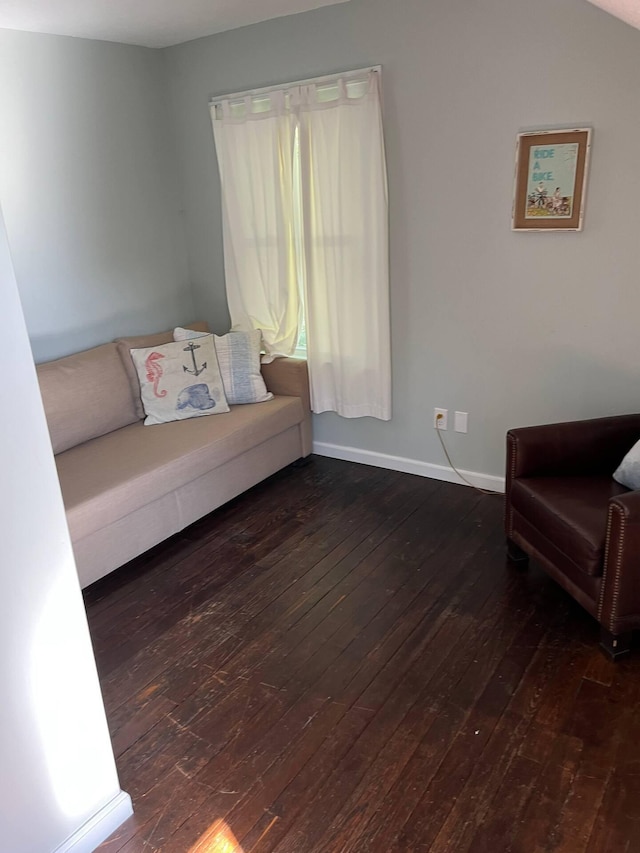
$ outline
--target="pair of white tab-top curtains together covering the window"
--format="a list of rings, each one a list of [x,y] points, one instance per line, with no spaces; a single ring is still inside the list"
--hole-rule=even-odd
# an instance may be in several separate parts
[[[387,178],[379,74],[211,110],[234,328],[290,355],[306,312],[314,412],[391,418]]]

